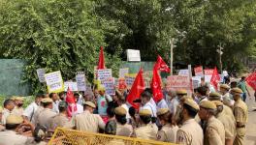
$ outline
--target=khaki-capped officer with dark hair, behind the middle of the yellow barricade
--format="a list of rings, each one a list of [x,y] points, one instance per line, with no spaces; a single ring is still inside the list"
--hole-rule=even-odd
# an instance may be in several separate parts
[[[114,109],[115,120],[117,122],[116,135],[130,137],[133,133],[133,127],[127,124],[127,111],[122,106]]]

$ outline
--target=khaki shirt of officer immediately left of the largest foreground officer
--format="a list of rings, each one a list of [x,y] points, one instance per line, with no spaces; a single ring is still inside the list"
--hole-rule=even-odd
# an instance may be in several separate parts
[[[176,142],[176,131],[177,126],[172,126],[171,124],[166,124],[162,127],[160,131],[157,132],[157,140],[163,142]]]

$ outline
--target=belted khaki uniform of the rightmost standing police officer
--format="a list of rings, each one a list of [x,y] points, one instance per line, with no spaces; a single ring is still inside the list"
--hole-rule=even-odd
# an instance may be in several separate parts
[[[234,104],[234,115],[236,122],[241,123],[241,126],[237,125],[237,136],[234,141],[234,145],[241,145],[245,135],[245,124],[248,121],[248,108],[247,105],[239,100]]]

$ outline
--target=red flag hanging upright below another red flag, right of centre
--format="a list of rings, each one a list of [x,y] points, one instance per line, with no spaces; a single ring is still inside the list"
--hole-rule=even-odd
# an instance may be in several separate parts
[[[152,81],[151,81],[151,89],[153,92],[153,99],[155,102],[160,102],[164,95],[161,89],[161,77],[159,73],[157,72],[157,63],[155,64],[153,68],[153,76],[152,76]]]

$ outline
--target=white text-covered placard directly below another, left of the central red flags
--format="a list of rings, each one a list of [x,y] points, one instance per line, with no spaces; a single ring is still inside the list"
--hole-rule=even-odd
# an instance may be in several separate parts
[[[105,87],[108,95],[115,95],[114,77],[102,79],[101,84]]]

